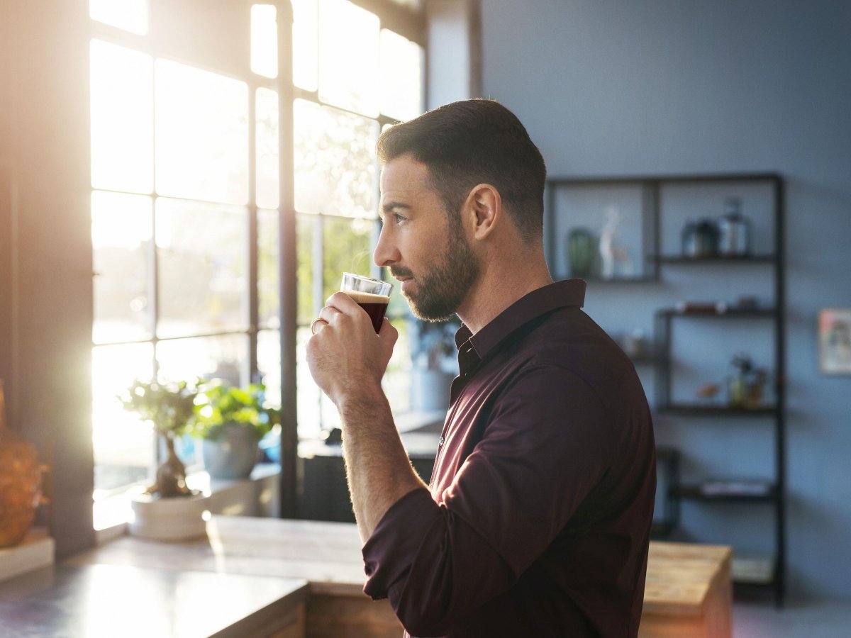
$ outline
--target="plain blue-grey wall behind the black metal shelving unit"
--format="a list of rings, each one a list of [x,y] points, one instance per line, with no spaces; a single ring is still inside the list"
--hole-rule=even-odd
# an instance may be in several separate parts
[[[851,307],[851,3],[482,5],[483,94],[517,112],[550,174],[785,175],[788,582],[792,593],[851,597],[851,377],[820,373],[815,335],[820,308]],[[614,331],[649,326],[660,298],[688,292],[677,273],[643,291],[591,288],[586,308]],[[723,294],[711,286],[727,278],[709,273],[701,293]],[[770,474],[765,430],[659,424],[696,473]],[[747,545],[762,543],[770,516],[740,507],[684,512],[691,538],[722,542],[738,529],[747,538],[736,544],[762,549]]]

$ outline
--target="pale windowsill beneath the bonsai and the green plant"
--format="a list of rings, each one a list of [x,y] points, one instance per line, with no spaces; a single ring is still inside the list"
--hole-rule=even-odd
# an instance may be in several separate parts
[[[233,516],[277,516],[277,463],[257,464],[247,479],[210,479],[205,471],[186,476],[186,484],[210,497],[210,513]],[[94,503],[94,533],[98,544],[122,536],[133,516],[132,489]]]

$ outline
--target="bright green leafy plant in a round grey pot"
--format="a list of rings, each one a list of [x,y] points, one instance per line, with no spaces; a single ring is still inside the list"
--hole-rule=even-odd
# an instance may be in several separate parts
[[[266,386],[210,385],[198,396],[191,433],[202,440],[204,469],[212,478],[251,475],[260,439],[281,423],[281,411],[266,400]]]

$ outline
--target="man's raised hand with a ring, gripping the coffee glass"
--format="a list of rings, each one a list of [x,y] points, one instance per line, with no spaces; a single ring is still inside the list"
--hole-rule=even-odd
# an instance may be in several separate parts
[[[334,293],[314,326],[307,342],[307,364],[337,407],[346,393],[380,390],[399,336],[387,319],[376,336],[366,311],[346,293]]]

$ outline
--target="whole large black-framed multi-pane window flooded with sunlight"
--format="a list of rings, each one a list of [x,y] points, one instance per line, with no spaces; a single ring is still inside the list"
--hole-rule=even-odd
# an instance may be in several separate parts
[[[133,379],[262,380],[280,401],[288,339],[300,436],[334,425],[304,361],[308,326],[343,271],[377,274],[374,146],[383,126],[422,110],[424,54],[408,39],[420,18],[395,6],[385,25],[346,0],[293,0],[282,89],[281,6],[233,0],[193,20],[183,0],[90,0],[96,498],[154,464],[150,428],[116,398]],[[279,151],[282,139],[293,148]],[[282,199],[285,157],[294,192]],[[297,269],[283,273],[297,291],[293,334],[279,320],[282,223],[297,237]],[[403,411],[407,307],[395,297],[386,386]],[[191,441],[181,454],[194,461]]]

